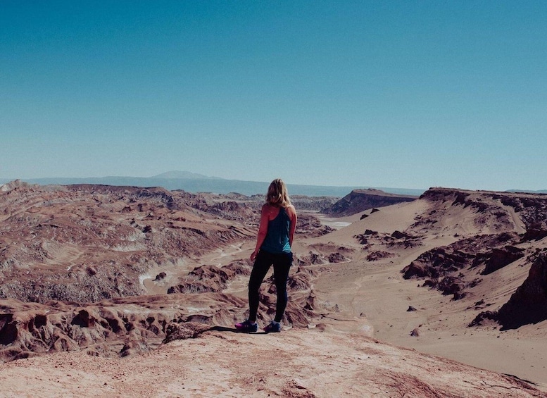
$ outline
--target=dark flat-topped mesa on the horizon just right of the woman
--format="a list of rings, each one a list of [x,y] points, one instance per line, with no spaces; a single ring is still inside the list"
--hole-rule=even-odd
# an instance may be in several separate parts
[[[322,213],[333,216],[351,216],[361,211],[373,209],[405,201],[413,201],[417,197],[408,195],[388,194],[379,189],[354,189],[350,194],[324,209]]]

